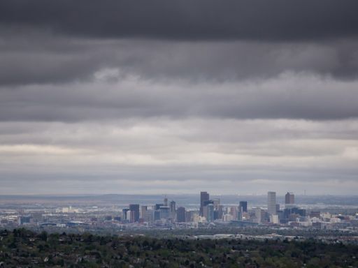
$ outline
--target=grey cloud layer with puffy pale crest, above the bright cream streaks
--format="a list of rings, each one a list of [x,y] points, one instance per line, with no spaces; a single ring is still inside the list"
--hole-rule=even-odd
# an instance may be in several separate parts
[[[358,117],[358,82],[307,73],[234,82],[158,82],[103,69],[91,82],[0,90],[1,121],[115,118],[345,119]],[[101,80],[119,75],[116,82]],[[110,77],[114,78],[114,77]]]

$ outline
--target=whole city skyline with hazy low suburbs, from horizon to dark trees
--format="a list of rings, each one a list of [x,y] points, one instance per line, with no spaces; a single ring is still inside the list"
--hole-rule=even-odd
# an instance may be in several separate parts
[[[294,193],[276,200],[276,193],[267,192],[266,204],[236,197],[234,203],[225,204],[220,198],[201,191],[196,202],[181,203],[166,195],[153,202],[143,202],[140,196],[129,204],[118,205],[120,199],[102,205],[77,203],[59,205],[37,201],[9,204],[2,207],[0,224],[27,228],[79,228],[79,230],[185,230],[206,228],[295,228],[299,230],[337,230],[355,228],[356,209],[336,203],[334,207],[315,201],[313,204],[294,204]],[[291,197],[291,198],[289,198]],[[69,201],[69,200],[68,200]],[[182,202],[182,200],[181,200]],[[285,206],[280,207],[280,204]],[[287,205],[289,203],[289,205]],[[41,204],[41,205],[40,205]],[[14,209],[16,208],[16,209]],[[322,210],[321,210],[322,209]],[[51,211],[51,213],[49,213]],[[342,214],[343,212],[343,214]]]

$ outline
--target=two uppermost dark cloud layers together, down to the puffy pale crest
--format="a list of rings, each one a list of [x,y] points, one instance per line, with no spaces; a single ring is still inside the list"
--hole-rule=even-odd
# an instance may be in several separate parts
[[[0,84],[247,80],[285,71],[355,79],[357,1],[1,1]],[[195,42],[193,42],[195,41]]]

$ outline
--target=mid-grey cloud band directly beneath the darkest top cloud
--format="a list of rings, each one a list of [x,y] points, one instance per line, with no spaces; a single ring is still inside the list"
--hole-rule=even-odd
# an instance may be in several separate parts
[[[52,37],[45,33],[0,35],[0,84],[51,84],[91,80],[101,68],[145,80],[192,82],[252,80],[292,71],[358,74],[358,40],[325,43],[174,42]]]

